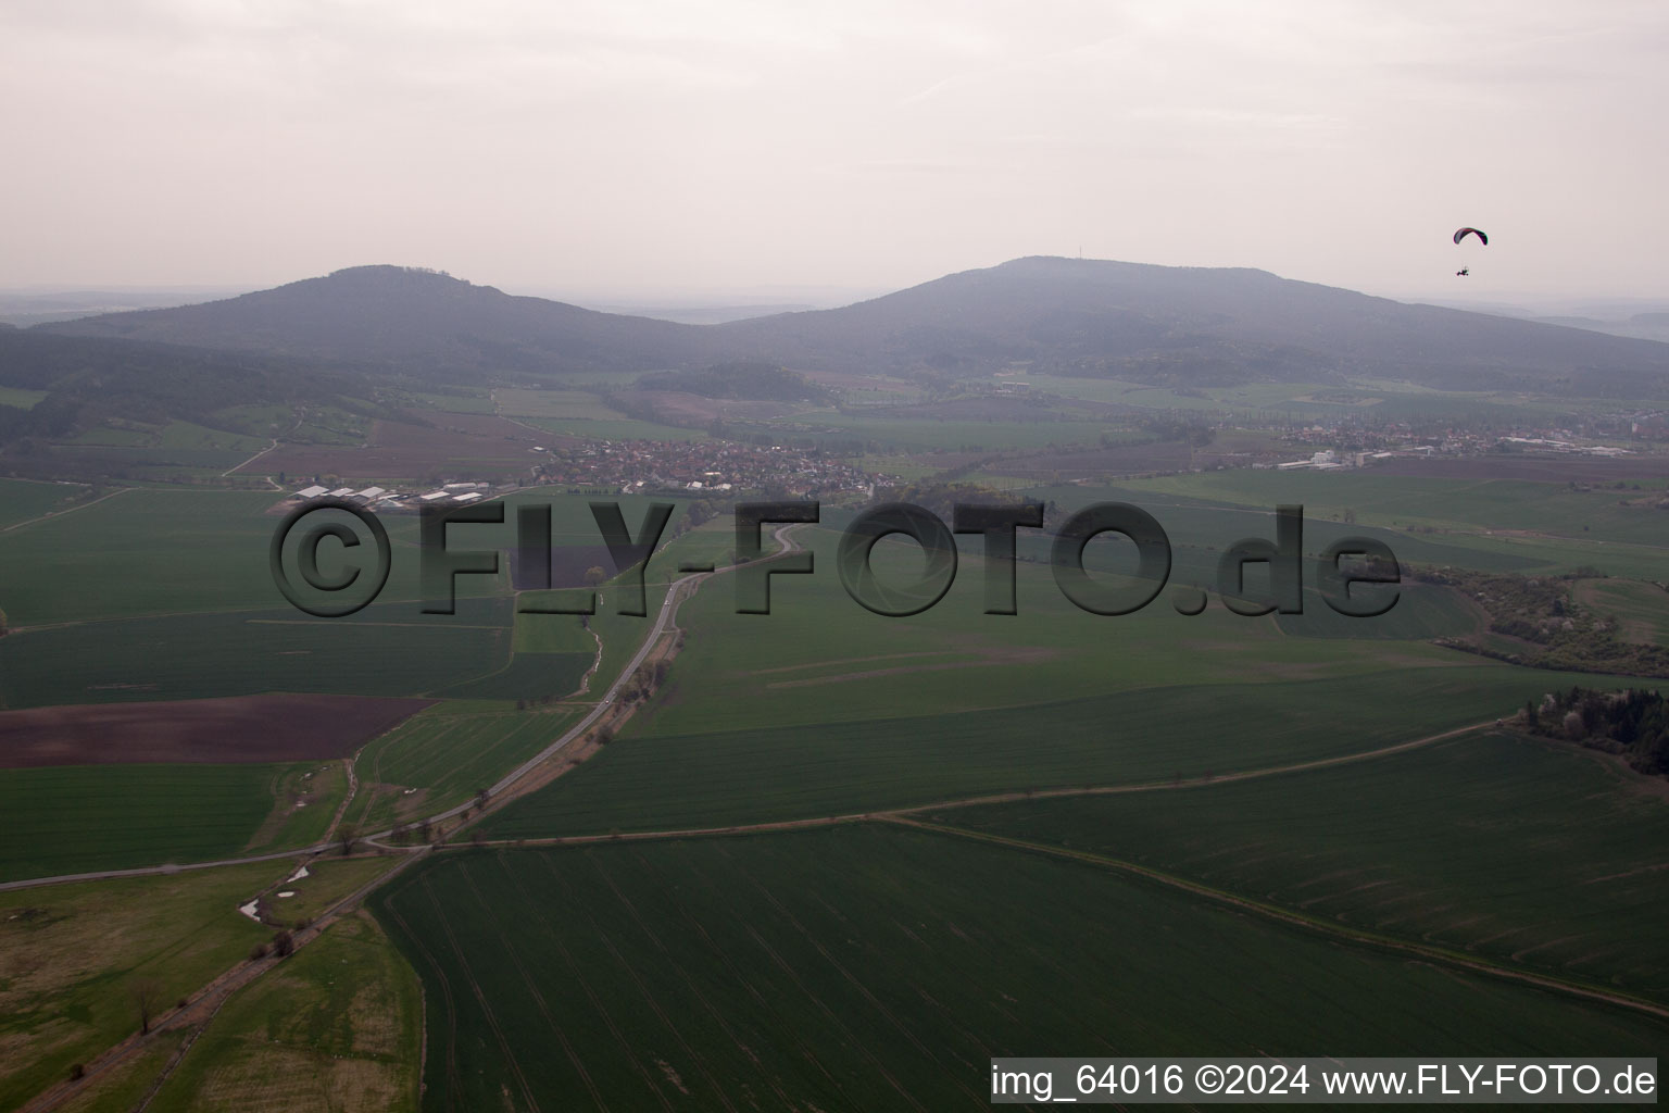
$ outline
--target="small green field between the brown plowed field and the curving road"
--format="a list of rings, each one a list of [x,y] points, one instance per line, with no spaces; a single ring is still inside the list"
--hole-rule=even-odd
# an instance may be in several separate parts
[[[491,788],[574,724],[579,708],[497,711],[437,704],[369,743],[345,823],[361,831],[446,811]]]

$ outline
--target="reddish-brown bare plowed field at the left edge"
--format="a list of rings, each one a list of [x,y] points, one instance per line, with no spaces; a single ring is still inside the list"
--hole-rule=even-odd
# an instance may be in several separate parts
[[[265,694],[0,711],[0,769],[345,758],[431,703]]]

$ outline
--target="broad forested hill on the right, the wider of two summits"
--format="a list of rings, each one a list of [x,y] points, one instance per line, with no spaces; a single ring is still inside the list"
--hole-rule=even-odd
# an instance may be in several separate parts
[[[1661,395],[1669,345],[1352,290],[1265,270],[1031,257],[845,309],[718,325],[724,347],[789,367],[1036,370],[1165,382],[1412,379]]]

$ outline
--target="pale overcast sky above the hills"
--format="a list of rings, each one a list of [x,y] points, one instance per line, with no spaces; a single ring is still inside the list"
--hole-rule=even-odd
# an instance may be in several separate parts
[[[1666,107],[1661,0],[3,0],[0,285],[1669,297]]]

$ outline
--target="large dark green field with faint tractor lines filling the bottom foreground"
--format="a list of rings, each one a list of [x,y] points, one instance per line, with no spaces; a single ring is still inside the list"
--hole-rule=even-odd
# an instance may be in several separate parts
[[[424,980],[424,1110],[973,1110],[990,1056],[1050,1048],[1657,1055],[1669,1038],[1083,863],[868,826],[459,853],[374,903]]]

